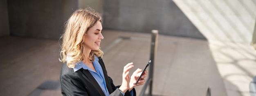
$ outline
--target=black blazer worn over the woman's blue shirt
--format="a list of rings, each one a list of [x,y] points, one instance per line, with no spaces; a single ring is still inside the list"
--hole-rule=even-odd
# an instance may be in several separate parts
[[[100,57],[99,64],[102,67],[110,96],[123,96],[117,89],[120,86],[115,86],[112,78],[108,76],[103,60]],[[83,68],[74,72],[72,68],[67,67],[67,64],[64,63],[61,68],[60,80],[61,94],[63,96],[105,96],[92,74]],[[135,89],[132,90],[134,94],[133,96],[136,96]],[[125,96],[131,95],[127,91]]]

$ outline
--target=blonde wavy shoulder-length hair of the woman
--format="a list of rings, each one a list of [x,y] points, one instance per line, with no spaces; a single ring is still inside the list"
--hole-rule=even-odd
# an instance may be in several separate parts
[[[72,13],[65,24],[65,32],[61,36],[62,45],[59,60],[67,62],[67,67],[74,68],[84,58],[83,37],[85,33],[99,21],[102,22],[101,15],[90,7],[78,9]],[[94,56],[102,57],[103,51],[92,50],[89,55],[89,62],[94,61]]]

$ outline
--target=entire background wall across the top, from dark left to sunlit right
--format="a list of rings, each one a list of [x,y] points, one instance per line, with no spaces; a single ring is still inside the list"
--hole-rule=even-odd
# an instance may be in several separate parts
[[[1,0],[0,36],[59,38],[78,8],[92,7],[104,29],[231,42],[252,41],[255,0]]]

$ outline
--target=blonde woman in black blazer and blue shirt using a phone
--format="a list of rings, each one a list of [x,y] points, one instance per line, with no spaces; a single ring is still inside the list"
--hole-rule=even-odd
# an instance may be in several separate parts
[[[102,19],[92,9],[76,10],[65,25],[61,46],[61,93],[63,96],[136,96],[134,87],[143,85],[147,71],[137,85],[141,74],[137,69],[129,76],[132,63],[124,66],[121,86],[115,86],[108,76],[99,49]]]

